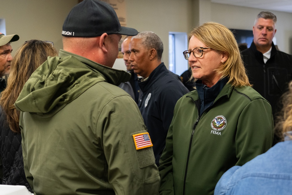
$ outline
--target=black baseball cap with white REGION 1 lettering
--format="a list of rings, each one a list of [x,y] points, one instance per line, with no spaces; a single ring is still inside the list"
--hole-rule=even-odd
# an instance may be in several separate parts
[[[103,33],[135,36],[138,31],[121,26],[114,8],[98,0],[84,0],[74,6],[62,30],[66,37],[99,37]]]

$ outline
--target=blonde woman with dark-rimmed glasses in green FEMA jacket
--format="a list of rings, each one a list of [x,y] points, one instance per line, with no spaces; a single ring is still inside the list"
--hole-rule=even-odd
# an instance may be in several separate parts
[[[251,88],[232,32],[192,30],[183,52],[196,90],[178,100],[161,155],[160,194],[213,194],[225,171],[272,146],[272,108]]]

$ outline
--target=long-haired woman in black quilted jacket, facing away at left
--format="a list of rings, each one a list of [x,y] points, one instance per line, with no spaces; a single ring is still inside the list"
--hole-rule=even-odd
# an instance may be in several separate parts
[[[0,175],[1,184],[24,185],[32,192],[23,168],[19,114],[14,107],[25,82],[48,56],[57,56],[53,42],[26,41],[11,62],[6,89],[0,99]],[[2,165],[2,166],[1,166]],[[2,174],[1,174],[2,173]]]

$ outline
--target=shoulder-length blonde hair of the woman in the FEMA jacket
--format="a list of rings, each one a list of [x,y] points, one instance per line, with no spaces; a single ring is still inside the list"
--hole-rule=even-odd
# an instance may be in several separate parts
[[[192,36],[197,37],[207,47],[211,47],[218,53],[228,54],[227,61],[215,70],[218,75],[221,75],[220,79],[228,77],[227,83],[234,87],[251,86],[235,37],[227,27],[214,22],[204,23],[190,32],[189,40]]]

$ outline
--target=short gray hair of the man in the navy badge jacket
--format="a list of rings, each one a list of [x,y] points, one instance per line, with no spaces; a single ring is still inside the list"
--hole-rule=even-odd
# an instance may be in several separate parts
[[[163,43],[157,34],[151,31],[143,31],[132,37],[132,39],[141,39],[141,44],[145,46],[146,49],[155,49],[158,59],[161,60]]]

